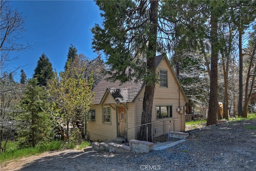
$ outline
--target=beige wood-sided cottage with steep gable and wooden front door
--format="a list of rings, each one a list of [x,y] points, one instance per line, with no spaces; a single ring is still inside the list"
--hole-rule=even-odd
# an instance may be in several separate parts
[[[155,87],[152,107],[152,136],[168,131],[185,131],[185,104],[188,101],[170,67],[166,55],[156,57],[156,71],[160,82]],[[107,81],[105,76],[92,90],[93,105],[86,116],[86,132],[92,141],[109,141],[126,137],[137,139],[140,135],[144,82]],[[138,127],[136,127],[138,126]],[[130,128],[130,129],[129,129]],[[127,129],[127,130],[126,130]]]

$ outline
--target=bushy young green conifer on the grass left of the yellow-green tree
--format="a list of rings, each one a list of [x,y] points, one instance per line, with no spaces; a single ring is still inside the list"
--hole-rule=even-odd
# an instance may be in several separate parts
[[[22,112],[17,116],[21,123],[18,127],[20,146],[35,147],[41,142],[50,140],[52,121],[47,112],[49,105],[42,86],[36,78],[28,80],[24,98],[21,100]]]

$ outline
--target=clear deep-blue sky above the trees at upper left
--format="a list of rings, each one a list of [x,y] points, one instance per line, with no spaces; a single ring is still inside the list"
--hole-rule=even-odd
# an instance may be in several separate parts
[[[26,16],[26,32],[20,39],[23,43],[35,43],[31,50],[12,53],[18,60],[9,63],[9,69],[23,67],[28,78],[32,78],[37,61],[42,53],[50,59],[52,68],[59,73],[64,70],[68,48],[72,43],[78,54],[95,58],[92,49],[93,35],[90,29],[95,23],[100,24],[100,10],[92,0],[67,1],[10,1],[13,8],[18,8]],[[20,69],[21,70],[21,69]],[[20,70],[14,76],[19,82]]]

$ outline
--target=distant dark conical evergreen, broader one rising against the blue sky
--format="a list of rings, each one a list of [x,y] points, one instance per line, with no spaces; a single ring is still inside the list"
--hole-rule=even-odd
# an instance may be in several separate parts
[[[48,79],[54,76],[52,71],[52,63],[50,63],[49,58],[43,53],[37,62],[36,69],[34,70],[33,78],[37,78],[38,85],[46,86]]]

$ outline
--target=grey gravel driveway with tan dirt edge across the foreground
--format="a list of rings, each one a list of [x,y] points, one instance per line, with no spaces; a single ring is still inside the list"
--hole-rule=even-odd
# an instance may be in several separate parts
[[[191,131],[186,142],[150,153],[63,150],[12,161],[1,171],[255,171],[256,121]]]

